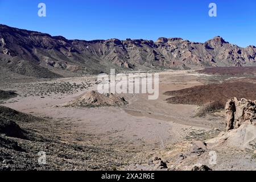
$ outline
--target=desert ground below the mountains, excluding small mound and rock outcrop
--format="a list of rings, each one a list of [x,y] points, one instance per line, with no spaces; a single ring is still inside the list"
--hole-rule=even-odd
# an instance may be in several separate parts
[[[148,100],[147,94],[122,94],[128,104],[101,107],[61,106],[97,90],[97,76],[3,78],[0,89],[18,95],[1,101],[1,114],[19,125],[22,137],[0,135],[0,168],[191,170],[197,165],[255,170],[255,143],[242,148],[228,137],[215,139],[227,132],[222,100],[240,99],[241,94],[256,100],[255,70],[229,75],[204,71],[159,72],[157,100]],[[207,107],[212,101],[220,103]],[[39,151],[46,152],[44,165],[38,163]],[[210,162],[213,157],[215,163]]]

